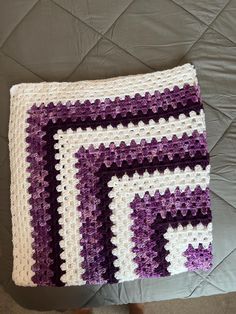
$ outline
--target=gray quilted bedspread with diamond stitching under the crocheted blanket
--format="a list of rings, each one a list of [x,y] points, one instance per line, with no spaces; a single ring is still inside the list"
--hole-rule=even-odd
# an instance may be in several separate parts
[[[0,0],[0,282],[18,303],[66,309],[236,290],[235,29],[235,0]],[[185,62],[196,66],[206,111],[213,270],[104,286],[15,286],[7,147],[11,85],[145,73]]]

